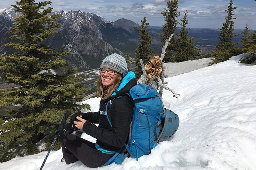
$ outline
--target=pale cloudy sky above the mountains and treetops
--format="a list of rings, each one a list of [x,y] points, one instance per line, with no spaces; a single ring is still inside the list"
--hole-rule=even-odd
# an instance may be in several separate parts
[[[0,9],[7,8],[16,0],[0,0]],[[150,26],[162,26],[161,15],[168,0],[52,0],[54,11],[81,10],[95,13],[108,21],[126,18],[140,24],[145,16]],[[36,0],[38,2],[38,0]],[[179,0],[179,19],[188,10],[188,27],[221,28],[225,21],[230,0]],[[233,0],[235,29],[256,29],[256,2],[253,0]],[[178,21],[179,21],[178,19]],[[180,22],[180,21],[179,21]]]

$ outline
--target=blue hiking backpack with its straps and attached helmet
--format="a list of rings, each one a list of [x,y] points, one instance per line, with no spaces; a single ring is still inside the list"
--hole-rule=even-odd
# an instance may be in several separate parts
[[[137,84],[130,89],[127,95],[134,102],[134,115],[129,140],[124,146],[129,156],[138,160],[139,157],[150,154],[151,149],[157,146],[160,138],[170,138],[177,131],[179,117],[174,112],[164,108],[159,93],[149,85]],[[108,114],[106,115],[108,117]],[[109,124],[112,127],[110,120]],[[125,157],[123,149],[120,149],[104,165],[109,165],[112,162],[121,164]]]

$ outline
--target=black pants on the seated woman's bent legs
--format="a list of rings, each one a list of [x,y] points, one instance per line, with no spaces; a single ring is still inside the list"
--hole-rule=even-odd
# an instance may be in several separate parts
[[[95,143],[79,136],[69,134],[64,138],[62,152],[65,162],[71,164],[80,160],[87,167],[96,168],[104,165],[113,154],[104,154],[96,149]]]

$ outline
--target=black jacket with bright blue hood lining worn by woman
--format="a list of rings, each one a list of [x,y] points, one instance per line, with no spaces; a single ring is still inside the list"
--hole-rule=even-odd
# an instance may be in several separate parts
[[[130,88],[136,83],[134,73],[128,72],[111,97],[100,101],[99,112],[77,113],[87,120],[83,125],[83,132],[97,139],[97,149],[106,153],[114,153],[119,151],[128,140],[134,106],[129,100],[129,96],[121,95],[129,93]],[[116,98],[117,96],[121,97]],[[113,99],[114,101],[108,105],[107,111],[113,126],[111,128],[107,116],[102,113],[106,111],[108,101]],[[99,126],[97,127],[93,123],[99,123]]]

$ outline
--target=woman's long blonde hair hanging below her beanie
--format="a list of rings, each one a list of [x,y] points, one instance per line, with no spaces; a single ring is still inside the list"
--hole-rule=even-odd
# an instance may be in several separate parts
[[[99,75],[99,78],[97,81],[97,91],[98,91],[99,97],[101,97],[101,99],[103,100],[108,99],[112,95],[114,90],[116,90],[116,88],[120,85],[120,83],[122,82],[122,79],[123,79],[122,75],[118,73],[113,85],[104,87],[101,81],[101,76]]]

